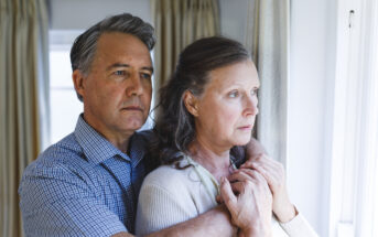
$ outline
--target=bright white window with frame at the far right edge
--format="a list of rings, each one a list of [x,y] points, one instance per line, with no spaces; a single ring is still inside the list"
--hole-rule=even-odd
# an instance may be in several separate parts
[[[339,2],[330,236],[378,236],[378,3]]]

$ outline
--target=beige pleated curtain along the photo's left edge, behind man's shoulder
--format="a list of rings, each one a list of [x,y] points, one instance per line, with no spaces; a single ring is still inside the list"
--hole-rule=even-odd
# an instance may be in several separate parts
[[[1,236],[22,236],[18,186],[41,150],[40,108],[48,98],[47,25],[45,0],[0,0]]]

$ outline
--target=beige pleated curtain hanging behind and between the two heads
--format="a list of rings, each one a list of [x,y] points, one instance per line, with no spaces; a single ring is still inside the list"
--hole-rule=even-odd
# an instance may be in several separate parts
[[[217,0],[151,0],[158,42],[154,50],[154,99],[193,41],[219,34]]]

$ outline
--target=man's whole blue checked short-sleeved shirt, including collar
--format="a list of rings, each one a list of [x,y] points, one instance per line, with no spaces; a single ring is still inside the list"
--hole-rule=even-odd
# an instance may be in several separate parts
[[[19,187],[26,236],[111,236],[133,233],[137,201],[148,173],[150,132],[136,132],[125,154],[83,117],[73,133],[24,171]]]

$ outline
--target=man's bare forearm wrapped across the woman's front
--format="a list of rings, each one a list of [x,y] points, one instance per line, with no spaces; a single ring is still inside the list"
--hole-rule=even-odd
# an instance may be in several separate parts
[[[236,228],[230,224],[230,216],[224,205],[219,205],[193,219],[148,235],[160,236],[235,236]],[[118,233],[114,237],[130,237],[131,234]]]

